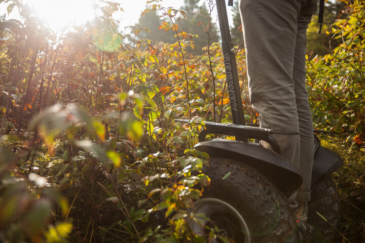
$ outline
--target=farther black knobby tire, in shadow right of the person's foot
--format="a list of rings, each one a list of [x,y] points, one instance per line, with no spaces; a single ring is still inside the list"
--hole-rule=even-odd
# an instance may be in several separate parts
[[[313,242],[331,241],[336,232],[335,228],[340,223],[340,217],[340,195],[334,181],[328,176],[312,190],[308,203],[308,223],[315,227]]]

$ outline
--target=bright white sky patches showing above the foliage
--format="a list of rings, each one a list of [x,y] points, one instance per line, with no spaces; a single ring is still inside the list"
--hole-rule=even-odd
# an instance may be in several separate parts
[[[70,26],[74,23],[82,24],[95,17],[95,11],[92,8],[94,1],[92,0],[23,0],[23,2],[33,5],[36,14],[48,22],[53,30],[56,30],[57,27]],[[118,0],[116,2],[121,4],[124,12],[120,12],[115,18],[120,20],[120,27],[124,28],[138,22],[141,12],[145,9],[147,0]],[[204,2],[204,0],[201,0],[201,2]],[[175,9],[179,9],[183,3],[183,0],[163,0],[160,2],[164,7]],[[9,3],[4,4],[4,2],[0,4],[0,15],[6,14],[7,19],[19,18],[16,8],[8,16],[6,9],[8,5]],[[216,14],[213,14],[213,19],[215,19],[215,16]],[[228,16],[230,16],[231,23],[231,14]]]

